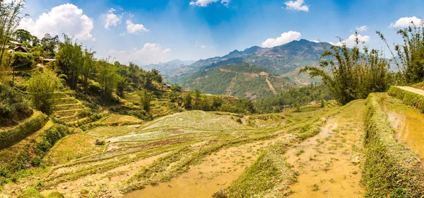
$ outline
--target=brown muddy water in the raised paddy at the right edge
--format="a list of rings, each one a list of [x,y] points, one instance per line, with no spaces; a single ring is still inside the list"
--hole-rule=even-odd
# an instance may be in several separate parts
[[[382,101],[384,111],[396,131],[396,137],[403,141],[412,151],[424,158],[424,114],[407,107],[398,101]]]

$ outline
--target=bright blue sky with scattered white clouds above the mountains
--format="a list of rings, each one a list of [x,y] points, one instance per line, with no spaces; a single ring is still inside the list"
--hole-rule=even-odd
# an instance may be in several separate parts
[[[400,42],[396,28],[420,21],[423,8],[418,0],[27,0],[20,28],[75,35],[98,57],[150,64],[299,39],[337,43],[357,28],[365,45],[384,49],[375,30]]]

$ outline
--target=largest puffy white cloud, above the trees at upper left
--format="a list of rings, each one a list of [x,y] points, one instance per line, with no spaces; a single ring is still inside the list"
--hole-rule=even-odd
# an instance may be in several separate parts
[[[33,18],[23,18],[18,28],[30,31],[39,38],[46,33],[61,35],[66,33],[81,40],[95,40],[91,35],[93,19],[83,14],[83,10],[73,4],[63,4],[52,8],[49,13],[42,13],[33,21]]]

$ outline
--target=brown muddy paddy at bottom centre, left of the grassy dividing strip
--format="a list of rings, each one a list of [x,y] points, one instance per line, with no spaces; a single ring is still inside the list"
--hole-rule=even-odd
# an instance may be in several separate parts
[[[237,147],[225,148],[213,153],[199,165],[194,165],[187,173],[158,186],[126,194],[132,197],[212,197],[213,193],[228,187],[243,173],[261,153],[261,149],[278,140],[290,139],[291,135],[280,136],[268,141],[258,141]],[[195,195],[195,196],[194,196]]]

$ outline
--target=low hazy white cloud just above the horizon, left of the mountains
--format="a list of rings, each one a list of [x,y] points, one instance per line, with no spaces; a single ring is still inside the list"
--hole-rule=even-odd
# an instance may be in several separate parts
[[[162,49],[158,43],[146,43],[141,49],[132,50],[109,50],[112,57],[116,57],[120,62],[136,62],[139,64],[157,64],[167,61],[167,54],[171,52],[170,48]]]

